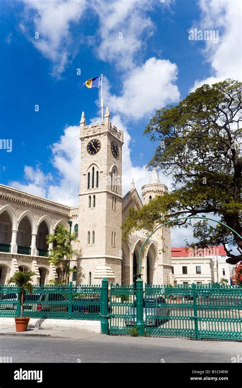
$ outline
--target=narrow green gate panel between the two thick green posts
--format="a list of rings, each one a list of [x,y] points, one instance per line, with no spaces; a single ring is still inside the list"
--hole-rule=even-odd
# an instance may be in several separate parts
[[[136,324],[135,285],[110,285],[110,334],[129,334]]]

